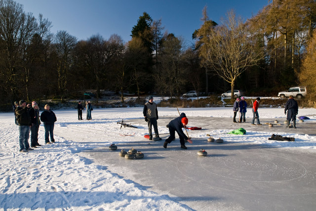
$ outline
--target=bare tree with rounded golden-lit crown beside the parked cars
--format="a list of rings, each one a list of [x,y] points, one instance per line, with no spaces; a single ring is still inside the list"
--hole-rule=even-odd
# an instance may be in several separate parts
[[[231,84],[234,93],[237,77],[262,59],[262,48],[256,45],[256,41],[256,36],[251,35],[241,18],[231,11],[222,25],[209,31],[204,41],[207,50],[200,53],[205,64]]]

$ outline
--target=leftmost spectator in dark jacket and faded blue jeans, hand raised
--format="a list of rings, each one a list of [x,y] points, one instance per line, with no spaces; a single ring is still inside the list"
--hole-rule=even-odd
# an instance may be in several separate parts
[[[16,119],[19,124],[19,144],[20,144],[20,152],[28,152],[29,150],[33,150],[29,145],[29,137],[30,137],[30,126],[31,126],[31,118],[29,115],[30,104],[26,105],[25,100],[20,100],[20,106],[18,106],[15,110]]]

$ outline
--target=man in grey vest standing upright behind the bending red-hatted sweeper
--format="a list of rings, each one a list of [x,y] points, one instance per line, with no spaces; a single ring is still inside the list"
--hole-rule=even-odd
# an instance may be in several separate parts
[[[161,138],[159,137],[158,126],[157,126],[157,120],[158,120],[157,104],[154,103],[153,96],[149,96],[148,102],[144,104],[143,115],[144,115],[145,121],[148,124],[149,140],[153,140],[153,133],[152,133],[153,126],[154,126],[156,138],[161,140]]]

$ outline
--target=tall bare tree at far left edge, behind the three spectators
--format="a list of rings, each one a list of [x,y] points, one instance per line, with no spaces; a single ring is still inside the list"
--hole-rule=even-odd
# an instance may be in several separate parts
[[[36,31],[36,20],[13,0],[0,0],[1,86],[9,98],[18,96],[21,63],[27,44]]]

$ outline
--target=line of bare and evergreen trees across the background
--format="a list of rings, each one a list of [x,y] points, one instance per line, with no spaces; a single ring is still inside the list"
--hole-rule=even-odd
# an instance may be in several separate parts
[[[96,90],[97,100],[102,89],[116,91],[122,102],[125,91],[178,97],[190,89],[207,94],[297,84],[316,91],[310,80],[316,75],[310,64],[315,0],[273,0],[245,22],[229,11],[216,23],[205,6],[201,21],[193,46],[146,12],[126,43],[117,34],[78,41],[67,31],[51,33],[42,14],[36,18],[14,0],[0,0],[0,100],[63,100],[86,89]]]

